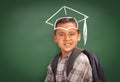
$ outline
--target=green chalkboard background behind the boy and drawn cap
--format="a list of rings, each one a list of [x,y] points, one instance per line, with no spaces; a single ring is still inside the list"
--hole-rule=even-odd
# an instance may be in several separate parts
[[[78,47],[95,53],[107,82],[119,82],[119,2],[114,0],[0,1],[0,82],[44,82],[47,65],[59,52],[45,21],[62,6],[89,16],[88,40]],[[82,25],[80,30],[82,34]]]

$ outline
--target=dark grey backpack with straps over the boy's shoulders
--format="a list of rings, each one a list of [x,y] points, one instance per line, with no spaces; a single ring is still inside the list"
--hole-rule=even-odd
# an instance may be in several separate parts
[[[100,61],[97,59],[97,57],[93,53],[91,53],[87,50],[81,49],[81,48],[75,48],[72,51],[72,53],[67,61],[67,69],[66,69],[67,76],[69,75],[70,71],[72,70],[74,61],[80,55],[80,53],[84,53],[89,59],[90,65],[92,67],[93,82],[105,82],[105,76],[104,76],[104,72],[103,72],[102,66],[100,64]],[[55,82],[56,82],[55,76],[56,76],[56,71],[57,71],[57,64],[58,64],[60,55],[61,55],[61,53],[56,55],[55,58],[51,62],[51,67],[52,67],[52,71],[54,73]]]

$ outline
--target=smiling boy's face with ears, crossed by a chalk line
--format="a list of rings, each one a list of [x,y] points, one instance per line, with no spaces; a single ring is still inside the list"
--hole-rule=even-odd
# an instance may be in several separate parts
[[[57,25],[56,34],[54,35],[55,42],[58,43],[62,52],[70,52],[80,41],[80,33],[77,31],[76,24],[73,22],[60,23]]]

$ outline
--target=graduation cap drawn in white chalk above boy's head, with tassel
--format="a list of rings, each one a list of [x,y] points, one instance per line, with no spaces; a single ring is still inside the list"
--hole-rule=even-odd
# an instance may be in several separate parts
[[[83,23],[83,39],[84,39],[84,45],[87,42],[87,23],[86,19],[88,18],[87,15],[73,9],[67,6],[62,6],[60,9],[58,9],[52,16],[50,16],[45,23],[51,25],[54,27],[54,30],[56,30],[55,25],[56,21],[63,18],[63,17],[73,17],[76,20],[76,23],[84,22]]]

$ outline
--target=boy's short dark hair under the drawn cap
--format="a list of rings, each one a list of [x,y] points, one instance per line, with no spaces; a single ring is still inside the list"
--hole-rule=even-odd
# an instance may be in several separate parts
[[[62,18],[56,20],[54,28],[57,28],[58,24],[65,24],[65,23],[69,23],[69,22],[76,24],[76,28],[78,28],[78,23],[77,23],[76,19],[74,19],[72,17],[62,17]],[[79,29],[77,29],[77,31],[78,31],[78,33],[80,32]],[[56,34],[56,29],[54,30],[54,34]]]

